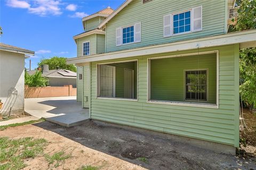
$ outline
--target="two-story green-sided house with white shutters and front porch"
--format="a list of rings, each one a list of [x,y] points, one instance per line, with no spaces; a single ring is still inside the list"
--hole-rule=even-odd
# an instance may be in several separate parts
[[[227,33],[234,3],[127,0],[91,31],[98,16],[87,16],[67,63],[81,68],[78,91],[90,118],[234,154],[239,48],[256,46],[256,30]]]

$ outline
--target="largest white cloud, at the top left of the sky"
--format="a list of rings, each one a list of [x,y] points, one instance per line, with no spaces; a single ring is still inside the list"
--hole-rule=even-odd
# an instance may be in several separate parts
[[[30,1],[7,0],[6,5],[10,7],[27,8],[29,13],[40,16],[61,15],[60,1],[58,0],[34,0]],[[32,3],[33,2],[33,3]]]

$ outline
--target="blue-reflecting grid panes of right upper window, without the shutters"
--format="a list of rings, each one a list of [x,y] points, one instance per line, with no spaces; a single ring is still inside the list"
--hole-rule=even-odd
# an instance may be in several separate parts
[[[173,15],[173,34],[191,31],[191,11]]]

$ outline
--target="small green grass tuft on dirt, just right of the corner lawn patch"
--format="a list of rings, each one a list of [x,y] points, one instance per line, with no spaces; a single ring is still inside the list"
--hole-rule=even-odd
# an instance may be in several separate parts
[[[54,167],[57,168],[60,164],[61,161],[70,158],[71,155],[65,155],[64,151],[56,152],[52,156],[49,154],[45,154],[45,159],[47,160],[48,164],[53,164],[55,163]]]

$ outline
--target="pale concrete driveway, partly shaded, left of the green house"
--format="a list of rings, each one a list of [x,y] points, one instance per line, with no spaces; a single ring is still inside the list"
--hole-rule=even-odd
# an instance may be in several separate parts
[[[89,120],[89,109],[83,109],[75,96],[28,98],[25,99],[25,112],[68,127],[81,125]]]

